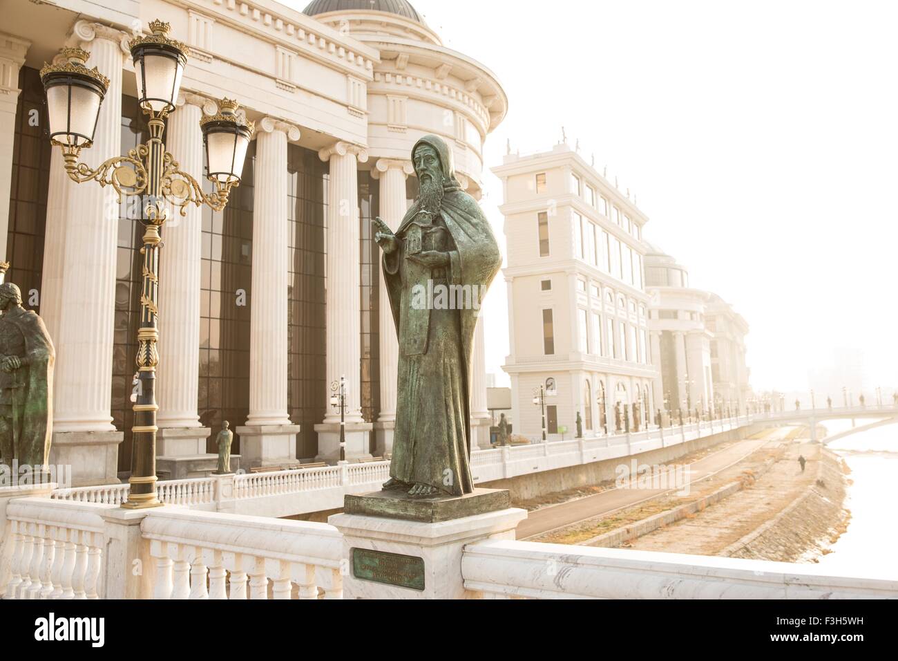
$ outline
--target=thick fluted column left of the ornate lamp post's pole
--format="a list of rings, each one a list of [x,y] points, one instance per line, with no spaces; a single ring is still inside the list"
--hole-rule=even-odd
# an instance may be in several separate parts
[[[121,155],[121,72],[128,35],[106,25],[75,23],[88,67],[110,79],[93,146],[81,161],[91,167]],[[59,194],[62,187],[53,191]],[[48,208],[58,208],[58,198]],[[119,443],[110,415],[112,330],[115,313],[119,202],[110,186],[68,186],[61,300],[54,373],[53,447],[50,463],[72,466],[76,486],[118,482]],[[136,368],[135,368],[136,371]]]

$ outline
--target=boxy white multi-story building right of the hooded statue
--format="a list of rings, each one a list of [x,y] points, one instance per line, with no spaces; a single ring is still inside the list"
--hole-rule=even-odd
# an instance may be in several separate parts
[[[576,150],[508,155],[502,179],[515,432],[550,439],[641,429],[658,368],[648,349],[647,217]],[[566,428],[567,432],[563,432]]]

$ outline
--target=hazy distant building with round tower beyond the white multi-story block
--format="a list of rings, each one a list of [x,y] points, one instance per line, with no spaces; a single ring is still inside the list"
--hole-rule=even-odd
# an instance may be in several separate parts
[[[653,384],[658,407],[678,418],[696,408],[744,411],[751,394],[745,364],[748,324],[709,291],[689,285],[689,271],[674,257],[648,244],[646,286],[651,296],[649,330]]]

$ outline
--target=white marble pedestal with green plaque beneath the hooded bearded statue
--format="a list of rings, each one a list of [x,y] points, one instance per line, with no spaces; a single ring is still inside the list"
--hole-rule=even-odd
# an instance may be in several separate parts
[[[464,599],[464,546],[514,540],[527,516],[508,503],[508,492],[497,489],[421,500],[395,491],[346,496],[346,511],[328,519],[349,560],[344,598]]]

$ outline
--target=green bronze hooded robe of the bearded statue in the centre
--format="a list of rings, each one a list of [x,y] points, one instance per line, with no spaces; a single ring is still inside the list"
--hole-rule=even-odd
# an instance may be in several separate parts
[[[462,496],[473,491],[471,357],[479,305],[420,309],[413,305],[413,290],[416,285],[428,290],[428,281],[434,288],[470,285],[479,303],[502,256],[480,206],[455,179],[452,151],[442,138],[427,136],[412,154],[422,144],[436,149],[445,177],[439,217],[427,224],[412,207],[396,232],[399,250],[383,255],[400,348],[390,477]],[[449,264],[431,269],[409,260],[418,237],[423,237],[422,250],[448,252]]]

